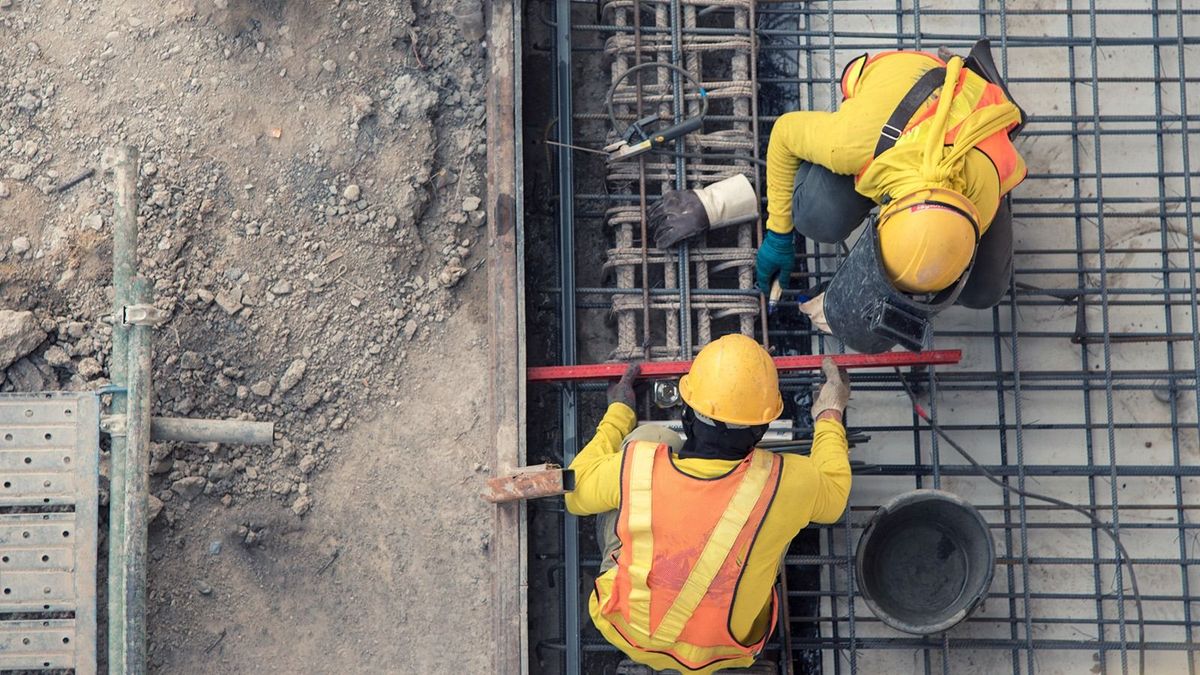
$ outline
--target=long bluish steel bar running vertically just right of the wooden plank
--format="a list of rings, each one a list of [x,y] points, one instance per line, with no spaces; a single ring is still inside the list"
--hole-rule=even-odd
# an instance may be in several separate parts
[[[571,102],[571,0],[554,4],[556,110],[558,112],[558,257],[559,285],[559,357],[564,365],[576,362],[575,341],[575,161],[569,148],[572,141]],[[563,387],[560,418],[563,462],[570,464],[578,452],[578,398],[571,384]],[[563,635],[566,640],[566,675],[582,673],[580,651],[580,522],[563,512]]]

